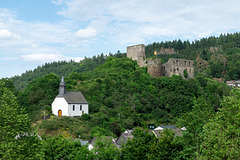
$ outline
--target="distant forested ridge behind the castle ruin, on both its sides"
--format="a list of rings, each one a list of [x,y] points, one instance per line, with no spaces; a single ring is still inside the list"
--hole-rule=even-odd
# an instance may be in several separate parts
[[[173,48],[176,54],[161,54],[157,57],[166,63],[169,58],[185,58],[195,61],[196,73],[202,72],[209,78],[223,78],[223,80],[240,79],[240,33],[221,34],[219,37],[208,37],[194,42],[173,40],[167,42],[146,45],[146,57],[154,57],[154,51],[161,48]],[[109,56],[121,58],[126,54],[109,54]],[[34,70],[27,71],[21,76],[12,78],[17,89],[23,90],[29,82],[49,73],[55,73],[59,77],[63,74],[83,73],[91,71],[98,65],[104,64],[107,56],[101,54],[92,58],[86,58],[80,63],[70,61],[46,63]]]

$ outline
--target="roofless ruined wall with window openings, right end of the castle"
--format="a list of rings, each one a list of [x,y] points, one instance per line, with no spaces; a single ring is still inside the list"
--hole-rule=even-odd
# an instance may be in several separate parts
[[[184,70],[187,71],[187,78],[194,78],[194,61],[186,59],[169,59],[162,65],[162,76],[181,75],[184,77]]]

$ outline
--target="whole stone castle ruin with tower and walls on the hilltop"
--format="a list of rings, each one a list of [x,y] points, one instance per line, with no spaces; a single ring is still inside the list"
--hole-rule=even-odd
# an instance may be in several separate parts
[[[127,57],[136,60],[140,67],[147,66],[148,73],[152,77],[171,77],[175,74],[187,79],[194,78],[194,61],[170,58],[167,63],[162,64],[160,59],[145,60],[144,44],[127,47]],[[184,72],[187,73],[187,75],[184,75]]]

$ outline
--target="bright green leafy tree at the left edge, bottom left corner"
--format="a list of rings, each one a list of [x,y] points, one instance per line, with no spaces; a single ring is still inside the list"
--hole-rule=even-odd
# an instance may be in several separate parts
[[[0,82],[0,159],[39,159],[40,144],[28,115]],[[32,135],[31,135],[32,134]]]

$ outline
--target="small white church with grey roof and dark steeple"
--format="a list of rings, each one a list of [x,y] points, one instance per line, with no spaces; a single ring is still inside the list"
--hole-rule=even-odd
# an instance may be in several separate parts
[[[59,94],[52,103],[52,113],[56,116],[81,116],[88,114],[88,102],[82,93],[66,92],[66,83],[62,77],[59,84]]]

